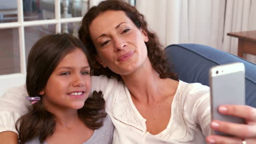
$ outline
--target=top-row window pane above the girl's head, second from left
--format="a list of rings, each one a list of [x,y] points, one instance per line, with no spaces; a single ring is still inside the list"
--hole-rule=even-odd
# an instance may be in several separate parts
[[[23,0],[24,21],[55,19],[54,0]]]

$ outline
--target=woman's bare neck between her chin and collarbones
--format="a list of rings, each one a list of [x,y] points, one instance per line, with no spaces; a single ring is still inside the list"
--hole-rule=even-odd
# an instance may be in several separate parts
[[[131,75],[122,76],[133,99],[150,105],[176,92],[178,82],[171,79],[160,79],[149,59]]]

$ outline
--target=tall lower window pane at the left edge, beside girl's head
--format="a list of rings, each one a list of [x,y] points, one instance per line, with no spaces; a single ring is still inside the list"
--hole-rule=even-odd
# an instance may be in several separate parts
[[[0,29],[0,75],[20,73],[18,28]]]

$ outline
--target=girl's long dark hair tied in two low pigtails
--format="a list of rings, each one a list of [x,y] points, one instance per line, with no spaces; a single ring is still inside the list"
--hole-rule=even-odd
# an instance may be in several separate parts
[[[54,69],[76,48],[83,50],[92,67],[91,58],[83,43],[70,34],[46,35],[32,46],[28,55],[26,76],[26,88],[30,97],[43,97],[38,93],[45,87]],[[104,106],[102,93],[93,92],[92,96],[86,99],[84,107],[78,110],[78,115],[87,127],[98,129],[107,115]],[[54,115],[44,109],[42,101],[29,106],[28,109],[28,113],[20,117],[15,125],[19,132],[18,143],[25,143],[37,137],[43,142],[46,137],[54,133],[56,125]]]

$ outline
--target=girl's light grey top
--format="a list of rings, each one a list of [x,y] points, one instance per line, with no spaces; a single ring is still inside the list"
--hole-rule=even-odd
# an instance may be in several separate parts
[[[94,130],[94,134],[90,137],[89,140],[85,141],[83,144],[110,144],[112,143],[114,132],[114,125],[107,115],[104,118],[103,126],[99,129]],[[39,139],[33,139],[31,141],[26,142],[26,144],[47,144],[46,142],[40,143]]]

